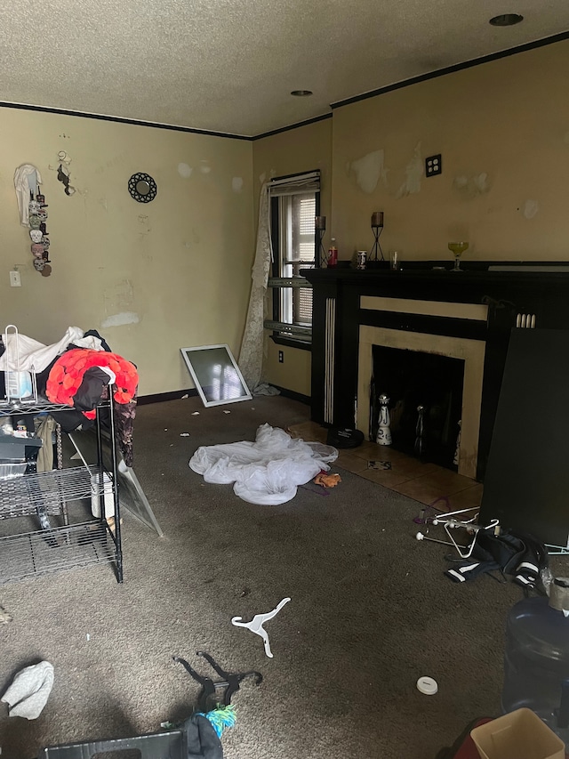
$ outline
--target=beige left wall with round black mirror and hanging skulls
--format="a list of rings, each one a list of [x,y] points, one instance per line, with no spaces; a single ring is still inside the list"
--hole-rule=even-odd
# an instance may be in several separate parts
[[[250,141],[16,109],[0,109],[0,125],[2,331],[14,323],[52,343],[70,325],[97,328],[139,367],[141,395],[192,386],[180,347],[228,343],[238,355],[253,256]],[[57,181],[60,150],[71,197]],[[13,174],[25,163],[44,180],[49,278],[33,269],[20,226]],[[129,195],[135,172],[156,180],[151,203]],[[14,267],[20,288],[9,286]]]

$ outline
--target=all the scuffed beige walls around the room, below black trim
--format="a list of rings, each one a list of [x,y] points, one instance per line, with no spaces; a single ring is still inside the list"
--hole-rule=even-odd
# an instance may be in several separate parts
[[[450,260],[447,242],[464,238],[471,260],[566,260],[568,60],[569,41],[550,44],[253,142],[0,109],[0,327],[14,322],[45,343],[69,325],[95,327],[138,364],[141,394],[191,386],[180,347],[229,343],[238,355],[260,185],[314,168],[325,246],[337,238],[341,258],[370,250],[370,216],[382,210],[381,246],[404,264]],[[59,150],[72,159],[70,198],[57,182]],[[443,174],[426,179],[424,158],[436,153]],[[44,178],[50,278],[33,270],[18,220],[12,177],[23,163]],[[158,185],[148,205],[126,189],[138,171]],[[14,267],[20,288],[9,287]],[[131,323],[104,326],[121,318]],[[263,378],[309,395],[309,351],[268,335],[264,347]]]

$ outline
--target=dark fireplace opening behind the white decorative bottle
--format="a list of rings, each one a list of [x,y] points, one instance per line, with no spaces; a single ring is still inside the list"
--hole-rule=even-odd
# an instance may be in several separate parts
[[[389,398],[391,447],[458,471],[464,360],[373,345],[370,438],[377,439],[380,396]]]

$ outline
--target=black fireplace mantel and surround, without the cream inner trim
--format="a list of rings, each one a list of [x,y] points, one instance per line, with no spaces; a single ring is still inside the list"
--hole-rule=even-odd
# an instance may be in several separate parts
[[[484,481],[509,336],[520,327],[569,329],[569,262],[464,262],[460,272],[444,268],[448,265],[405,262],[405,269],[397,271],[301,271],[313,287],[311,416],[319,424],[355,426],[361,325],[483,341],[477,480]],[[365,295],[485,304],[487,319],[366,310],[360,307]],[[367,430],[362,432],[367,436]]]

